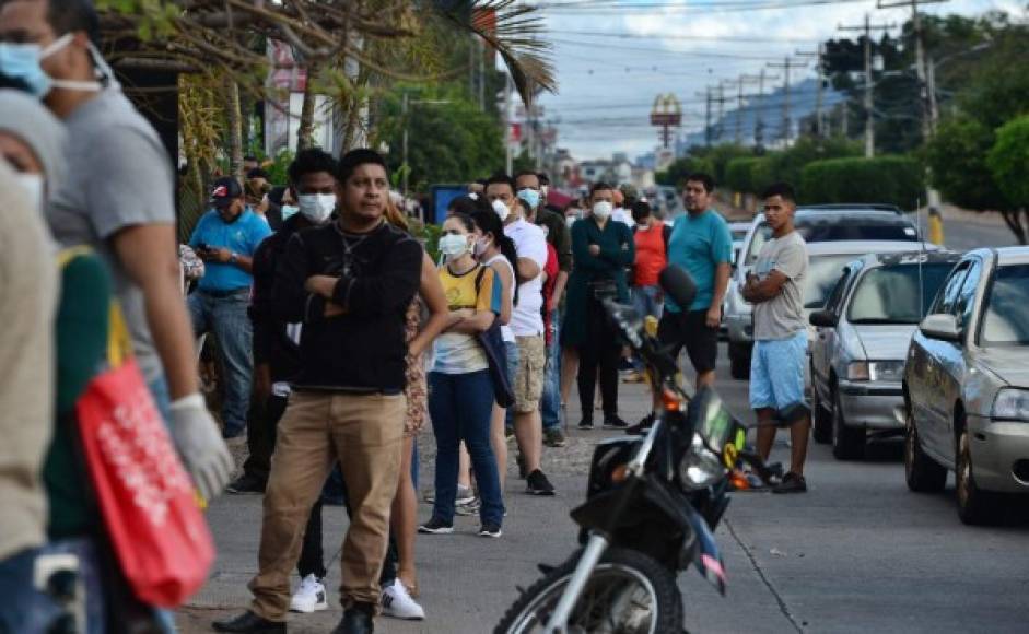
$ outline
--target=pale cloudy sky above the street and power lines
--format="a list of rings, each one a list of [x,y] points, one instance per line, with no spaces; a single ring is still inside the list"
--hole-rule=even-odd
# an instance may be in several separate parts
[[[894,3],[897,0],[885,0]],[[840,24],[902,24],[911,10],[876,9],[876,0],[539,0],[553,43],[559,93],[545,95],[543,118],[558,145],[576,158],[630,157],[657,145],[648,125],[654,98],[674,93],[682,129],[703,129],[706,85],[757,75],[770,61],[814,51]],[[1005,10],[1026,17],[1025,0],[950,0],[925,12],[978,15]],[[899,32],[898,28],[893,33]],[[850,34],[856,35],[856,34]],[[799,59],[794,57],[794,59]],[[814,77],[814,64],[793,77]],[[777,74],[782,84],[782,71]],[[757,83],[746,86],[756,92]],[[726,95],[736,95],[726,89]],[[728,109],[728,106],[727,106]]]

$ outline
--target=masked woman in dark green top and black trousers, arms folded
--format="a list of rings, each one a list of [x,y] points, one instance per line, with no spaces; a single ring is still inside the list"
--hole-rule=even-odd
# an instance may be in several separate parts
[[[569,280],[563,341],[578,350],[580,428],[592,430],[597,379],[604,407],[604,426],[625,428],[618,415],[619,336],[607,318],[604,300],[629,303],[625,269],[635,259],[629,226],[611,218],[615,189],[597,183],[590,193],[593,214],[572,225],[575,263]]]

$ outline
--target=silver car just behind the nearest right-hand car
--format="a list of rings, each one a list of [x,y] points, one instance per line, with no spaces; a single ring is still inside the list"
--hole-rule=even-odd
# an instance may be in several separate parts
[[[903,431],[897,409],[911,336],[947,273],[951,251],[867,255],[846,265],[825,308],[811,313],[811,415],[841,460],[864,456],[866,431]]]

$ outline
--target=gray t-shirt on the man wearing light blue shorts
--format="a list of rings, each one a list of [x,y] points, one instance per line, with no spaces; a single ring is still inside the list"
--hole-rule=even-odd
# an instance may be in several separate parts
[[[804,320],[804,278],[807,277],[807,243],[797,232],[764,243],[753,273],[764,280],[773,270],[786,275],[782,292],[753,306],[753,338],[758,341],[787,339],[807,328]]]

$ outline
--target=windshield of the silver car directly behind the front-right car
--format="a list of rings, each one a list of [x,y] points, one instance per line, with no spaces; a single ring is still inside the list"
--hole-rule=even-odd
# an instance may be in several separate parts
[[[846,319],[851,324],[917,324],[952,268],[949,262],[933,262],[922,265],[921,271],[916,263],[872,269],[857,283]]]

